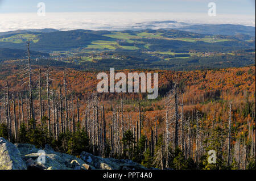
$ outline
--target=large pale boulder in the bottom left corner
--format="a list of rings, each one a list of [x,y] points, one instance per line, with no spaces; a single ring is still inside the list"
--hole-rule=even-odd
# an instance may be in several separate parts
[[[17,147],[5,138],[0,138],[0,170],[26,170],[26,163]]]

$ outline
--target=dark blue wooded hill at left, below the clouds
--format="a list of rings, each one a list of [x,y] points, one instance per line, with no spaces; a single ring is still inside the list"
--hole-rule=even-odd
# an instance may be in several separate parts
[[[0,36],[0,39],[7,41],[0,41],[0,48],[15,48],[24,49],[24,41],[19,40],[19,36],[23,37],[23,40],[30,39],[31,50],[68,50],[72,48],[86,47],[92,43],[92,41],[105,40],[115,41],[112,37],[102,36],[101,32],[90,32],[86,30],[71,30],[71,31],[52,31],[52,32],[26,32],[27,35],[20,35],[20,33],[7,34]],[[25,32],[23,32],[25,33]],[[106,32],[105,32],[106,33]],[[10,41],[9,41],[10,39]],[[34,41],[35,40],[35,41]]]

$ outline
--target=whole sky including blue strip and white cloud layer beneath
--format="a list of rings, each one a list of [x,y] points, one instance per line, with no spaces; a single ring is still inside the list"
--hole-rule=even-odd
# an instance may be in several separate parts
[[[39,2],[46,5],[46,16],[38,16]],[[209,2],[216,3],[216,16],[208,15]],[[255,27],[255,0],[0,0],[0,31],[182,26],[180,23],[151,23],[156,20]]]

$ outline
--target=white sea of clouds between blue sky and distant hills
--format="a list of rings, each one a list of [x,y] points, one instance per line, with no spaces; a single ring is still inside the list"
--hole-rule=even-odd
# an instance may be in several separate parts
[[[178,23],[152,23],[175,20]],[[188,24],[242,24],[255,27],[255,15],[171,13],[171,12],[49,12],[0,14],[0,32],[23,29],[55,28],[58,30],[126,30],[172,28]]]

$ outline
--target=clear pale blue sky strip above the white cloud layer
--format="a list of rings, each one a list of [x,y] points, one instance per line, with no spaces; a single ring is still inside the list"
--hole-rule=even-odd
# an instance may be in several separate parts
[[[220,14],[255,14],[255,0],[0,0],[0,13],[35,12],[38,2],[48,12],[137,11],[204,13],[215,2]]]

